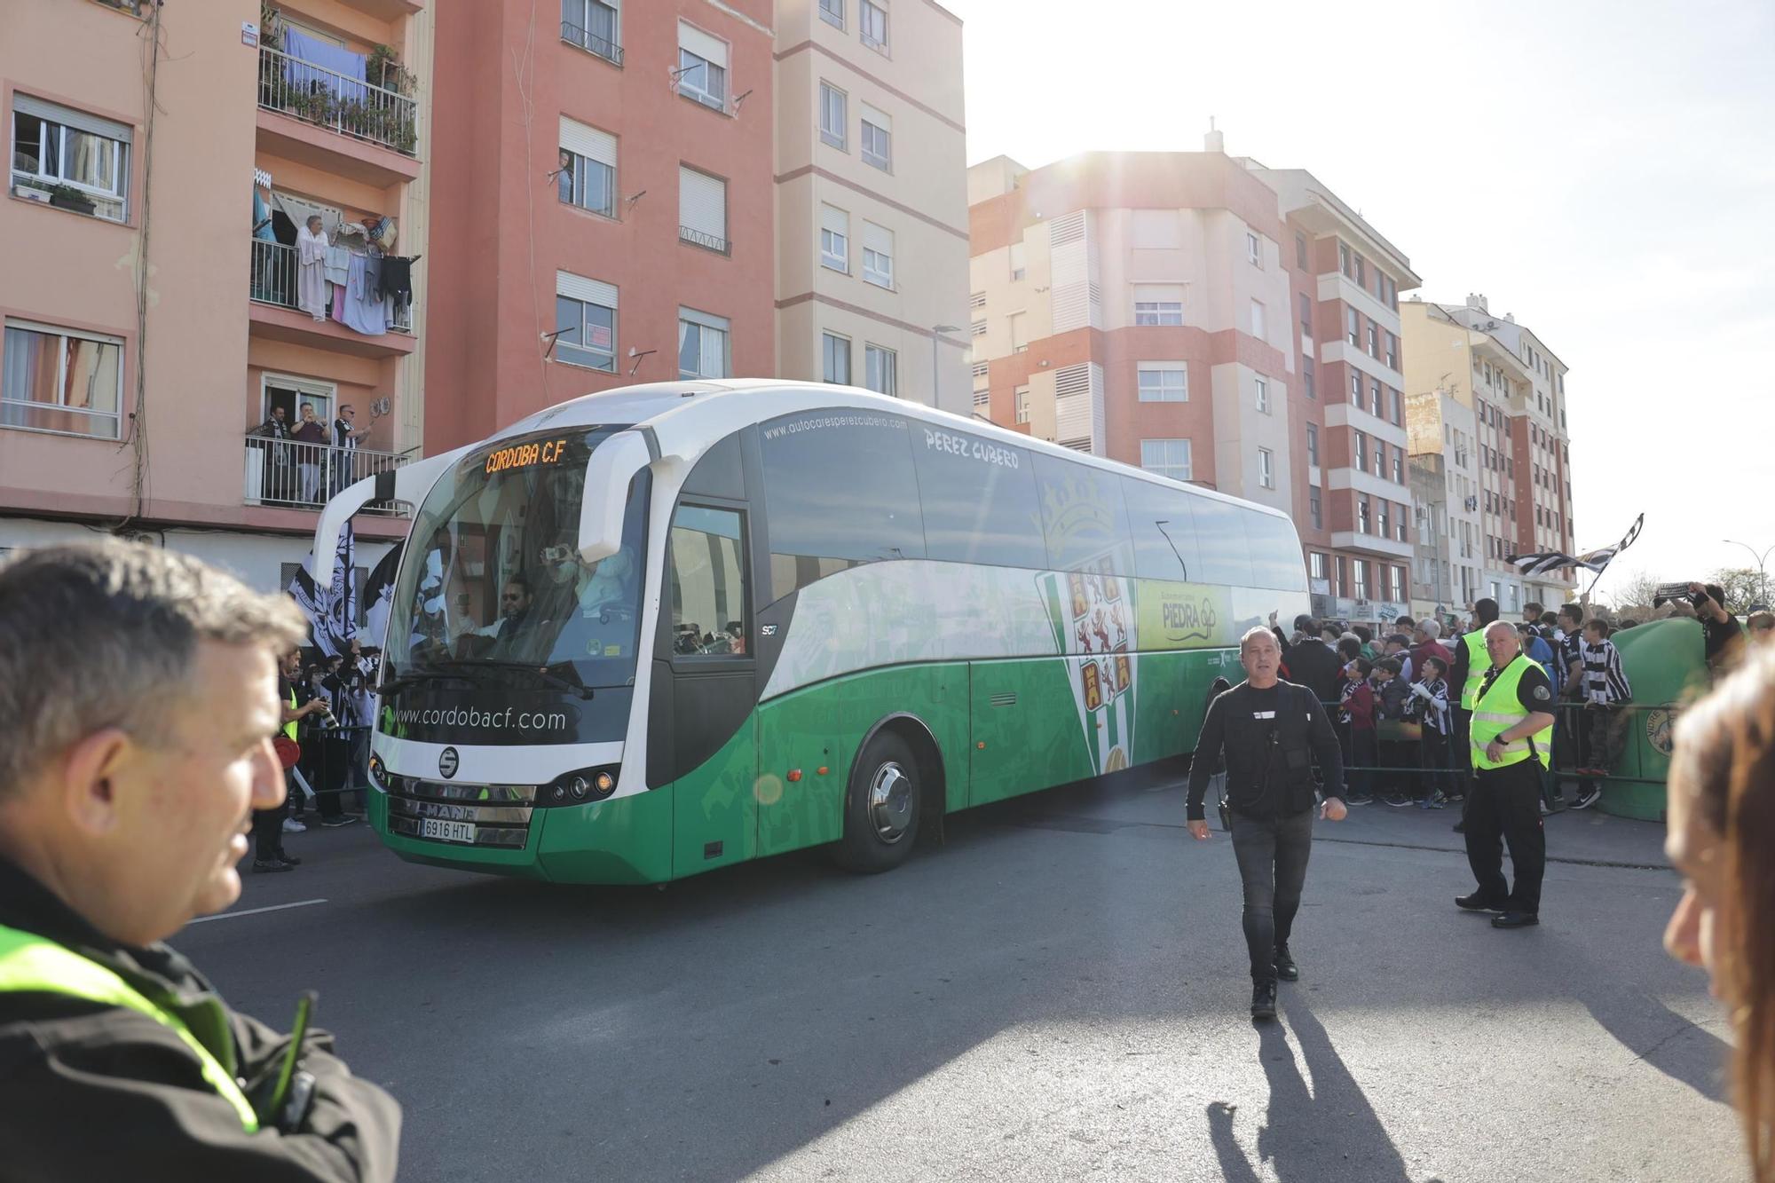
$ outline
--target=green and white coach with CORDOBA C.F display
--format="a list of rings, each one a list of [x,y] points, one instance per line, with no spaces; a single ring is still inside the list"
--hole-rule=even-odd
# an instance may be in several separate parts
[[[369,817],[401,858],[659,883],[1189,751],[1290,520],[850,387],[588,394],[341,492],[415,506]]]

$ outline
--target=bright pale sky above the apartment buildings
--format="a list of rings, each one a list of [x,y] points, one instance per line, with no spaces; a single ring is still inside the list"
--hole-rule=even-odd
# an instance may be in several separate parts
[[[1645,513],[1603,599],[1775,547],[1775,4],[943,4],[969,163],[1200,151],[1214,117],[1425,300],[1514,313],[1571,369],[1578,549]]]

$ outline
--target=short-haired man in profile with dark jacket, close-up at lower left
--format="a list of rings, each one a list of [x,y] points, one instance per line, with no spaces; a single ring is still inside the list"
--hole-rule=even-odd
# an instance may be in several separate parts
[[[399,1107],[160,941],[282,799],[282,597],[146,545],[0,567],[0,1176],[392,1179]],[[298,1028],[302,1023],[298,1021]]]

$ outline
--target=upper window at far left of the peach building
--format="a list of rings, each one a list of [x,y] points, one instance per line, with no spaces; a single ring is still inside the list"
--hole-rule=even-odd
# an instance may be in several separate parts
[[[41,194],[66,187],[55,204],[122,222],[128,217],[130,124],[57,107],[28,94],[12,96],[12,185]]]

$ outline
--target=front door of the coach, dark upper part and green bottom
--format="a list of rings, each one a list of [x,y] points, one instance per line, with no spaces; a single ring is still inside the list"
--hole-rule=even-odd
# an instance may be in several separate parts
[[[692,471],[666,540],[648,707],[648,785],[674,785],[673,876],[756,853],[751,512],[744,499],[694,492],[740,492],[733,488],[738,448],[726,455],[735,442],[717,446]],[[719,467],[722,460],[731,460],[733,481],[705,472],[705,465]]]

